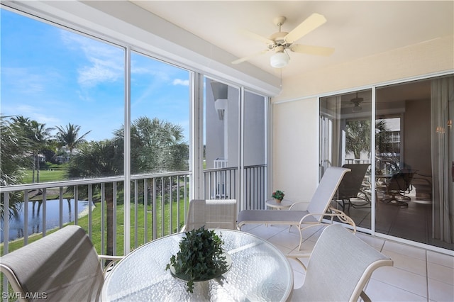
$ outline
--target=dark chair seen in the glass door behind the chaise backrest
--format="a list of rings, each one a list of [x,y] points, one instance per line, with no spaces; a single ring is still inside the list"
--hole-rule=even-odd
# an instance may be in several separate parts
[[[350,206],[353,208],[370,206],[369,197],[365,191],[362,191],[362,183],[369,166],[370,164],[344,164],[342,166],[351,170],[343,177],[336,196],[336,199],[341,201],[339,204],[342,206],[342,211],[345,211],[347,205],[348,208]]]

